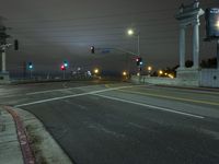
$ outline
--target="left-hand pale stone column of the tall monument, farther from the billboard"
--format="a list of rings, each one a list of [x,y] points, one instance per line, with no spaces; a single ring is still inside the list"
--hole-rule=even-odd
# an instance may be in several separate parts
[[[185,26],[180,30],[180,69],[185,68]]]

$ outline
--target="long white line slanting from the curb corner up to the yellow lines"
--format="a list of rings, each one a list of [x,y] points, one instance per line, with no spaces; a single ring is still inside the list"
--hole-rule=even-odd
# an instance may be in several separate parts
[[[79,93],[79,94],[73,94],[73,95],[67,95],[67,96],[60,96],[60,97],[54,97],[54,98],[48,98],[48,99],[20,104],[20,105],[15,105],[14,107],[23,107],[23,106],[28,106],[28,105],[42,104],[42,103],[47,103],[47,102],[53,102],[53,101],[72,98],[72,97],[78,97],[78,96],[91,95],[91,94],[116,91],[116,90],[122,90],[122,89],[129,89],[129,87],[134,87],[134,86],[118,86],[118,87],[104,89],[104,90],[99,90],[99,91],[91,91],[91,92],[85,92],[85,93]]]

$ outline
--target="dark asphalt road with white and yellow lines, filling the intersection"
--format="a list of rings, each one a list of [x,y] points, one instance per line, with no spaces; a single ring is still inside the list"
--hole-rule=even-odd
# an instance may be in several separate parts
[[[27,84],[0,86],[0,104],[36,115],[76,164],[219,163],[219,90]]]

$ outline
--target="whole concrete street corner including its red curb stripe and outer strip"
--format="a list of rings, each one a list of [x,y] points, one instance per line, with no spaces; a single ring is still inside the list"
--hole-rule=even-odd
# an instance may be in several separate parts
[[[0,106],[0,163],[72,164],[34,115],[5,106]]]

